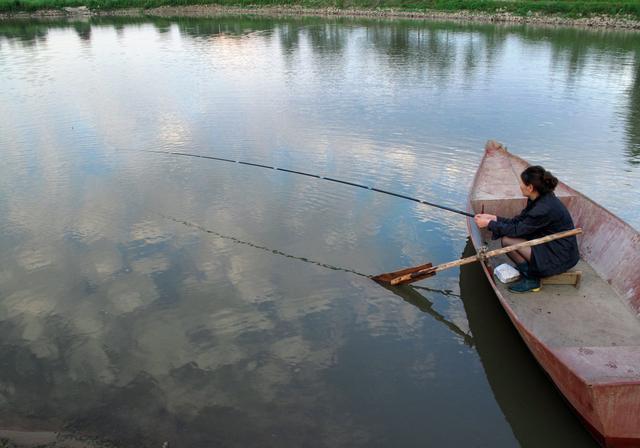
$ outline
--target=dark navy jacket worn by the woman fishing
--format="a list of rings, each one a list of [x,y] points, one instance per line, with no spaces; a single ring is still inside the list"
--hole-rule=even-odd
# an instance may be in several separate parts
[[[498,217],[489,223],[493,239],[502,236],[532,240],[574,228],[569,211],[553,193],[527,201],[515,218]],[[574,267],[580,259],[575,236],[561,238],[531,248],[529,272],[534,277],[560,274]]]

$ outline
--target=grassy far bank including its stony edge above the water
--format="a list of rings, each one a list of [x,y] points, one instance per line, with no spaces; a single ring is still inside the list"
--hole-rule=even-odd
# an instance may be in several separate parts
[[[588,26],[640,23],[640,0],[0,0],[0,17],[24,14],[108,14],[125,10],[201,10],[233,12],[291,11],[312,15],[378,15],[428,17],[462,15],[494,17],[496,21],[535,18],[587,21]],[[509,20],[515,18],[515,20]],[[529,19],[533,20],[529,20]],[[625,26],[627,27],[627,26]],[[635,26],[631,26],[635,28]]]

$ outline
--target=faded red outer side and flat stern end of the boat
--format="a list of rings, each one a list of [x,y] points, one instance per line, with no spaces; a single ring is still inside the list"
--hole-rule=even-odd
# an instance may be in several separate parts
[[[478,174],[473,188],[477,179]],[[514,202],[511,201],[508,207],[514,208]],[[474,210],[471,196],[468,211],[480,211]],[[473,245],[479,250],[483,246],[482,235],[473,219],[468,218],[467,225]],[[482,267],[523,341],[594,438],[605,447],[640,447],[640,380],[637,374],[640,347],[552,347],[546,344],[509,305],[495,282],[489,262],[483,262]]]

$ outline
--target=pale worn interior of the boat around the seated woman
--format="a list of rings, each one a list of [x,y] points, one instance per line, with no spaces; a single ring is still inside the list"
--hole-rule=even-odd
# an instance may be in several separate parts
[[[518,180],[526,167],[506,151],[488,152],[470,198],[474,212],[517,215],[526,205]],[[572,269],[582,272],[580,283],[543,284],[540,292],[515,294],[494,279],[498,290],[524,327],[550,348],[640,347],[638,232],[562,183],[555,193],[583,228],[581,260]],[[473,224],[472,237],[476,247],[500,247]],[[514,264],[506,255],[489,259],[492,267],[502,263]]]

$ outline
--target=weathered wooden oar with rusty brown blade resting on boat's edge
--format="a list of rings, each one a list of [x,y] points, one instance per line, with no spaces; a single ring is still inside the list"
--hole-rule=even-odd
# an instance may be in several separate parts
[[[412,268],[402,269],[400,271],[388,272],[386,274],[376,275],[371,277],[378,283],[389,284],[392,286],[401,285],[405,283],[413,283],[418,280],[422,280],[428,277],[433,277],[440,271],[445,269],[454,268],[456,266],[462,266],[465,264],[473,263],[487,258],[495,257],[498,255],[506,254],[514,250],[522,249],[523,247],[537,246],[538,244],[548,243],[549,241],[558,240],[560,238],[567,238],[582,233],[581,228],[566,230],[564,232],[554,233],[552,235],[543,236],[542,238],[536,238],[535,240],[525,241],[523,243],[514,244],[512,246],[503,247],[501,249],[495,249],[489,252],[481,252],[478,255],[472,257],[466,257],[461,260],[450,261],[449,263],[439,264],[433,266],[432,263],[422,264],[420,266],[414,266]]]

